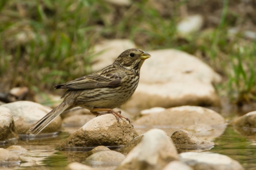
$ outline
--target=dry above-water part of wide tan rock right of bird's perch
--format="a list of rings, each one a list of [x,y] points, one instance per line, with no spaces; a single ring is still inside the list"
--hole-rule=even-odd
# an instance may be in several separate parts
[[[196,124],[221,125],[224,118],[215,111],[199,106],[180,106],[155,112],[134,121],[134,125],[170,125],[189,127]]]

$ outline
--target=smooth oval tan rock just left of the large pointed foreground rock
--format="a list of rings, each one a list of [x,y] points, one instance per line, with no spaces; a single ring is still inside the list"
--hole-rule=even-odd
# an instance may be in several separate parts
[[[115,169],[125,156],[118,151],[98,151],[86,158],[85,164],[97,169]]]

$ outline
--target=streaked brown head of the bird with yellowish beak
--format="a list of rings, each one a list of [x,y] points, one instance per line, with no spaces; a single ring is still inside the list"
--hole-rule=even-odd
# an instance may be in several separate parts
[[[121,66],[128,70],[140,70],[145,59],[150,58],[150,54],[141,49],[128,49],[122,52],[115,60],[114,65]]]

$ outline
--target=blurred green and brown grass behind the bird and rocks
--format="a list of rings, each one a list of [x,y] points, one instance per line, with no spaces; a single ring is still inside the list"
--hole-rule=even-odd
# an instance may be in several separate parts
[[[9,88],[52,89],[91,72],[95,43],[129,38],[145,50],[174,48],[194,54],[224,77],[218,86],[225,91],[221,95],[237,104],[255,101],[256,42],[242,33],[228,35],[228,29],[240,26],[241,17],[230,10],[231,1],[221,3],[218,24],[182,36],[176,29],[180,8],[190,8],[190,1],[173,1],[167,14],[145,0],[131,6],[93,0],[1,1],[1,82]]]

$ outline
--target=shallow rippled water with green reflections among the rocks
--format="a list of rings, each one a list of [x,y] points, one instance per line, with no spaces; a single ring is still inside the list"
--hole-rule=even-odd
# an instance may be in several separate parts
[[[135,126],[139,134],[143,134],[150,128],[161,128],[168,135],[172,135],[175,130],[180,128],[171,127],[143,127]],[[222,127],[223,128],[223,127]],[[64,128],[63,132],[55,137],[35,140],[19,140],[17,145],[26,148],[28,151],[20,154],[20,158],[24,160],[19,166],[12,166],[16,169],[64,169],[70,162],[82,162],[88,157],[88,150],[92,148],[77,148],[77,150],[61,151],[56,150],[58,145],[66,139],[70,133],[76,131],[78,128]],[[221,153],[228,157],[234,158],[242,164],[244,169],[255,169],[256,167],[256,136],[241,135],[241,130],[237,130],[234,127],[224,128],[225,130],[219,137],[214,135],[207,136],[201,134],[199,138],[213,139],[217,146],[211,148],[211,150],[205,150],[214,153]],[[253,130],[252,130],[253,131]],[[209,134],[208,134],[209,135]],[[12,144],[6,144],[0,146],[1,148],[8,148]],[[115,148],[111,148],[115,149]],[[193,150],[195,151],[195,150]],[[200,150],[197,150],[200,151]],[[89,162],[90,166],[100,169],[106,169],[106,165],[102,165],[102,162]],[[112,162],[109,169],[113,169],[120,162]],[[88,164],[88,163],[87,163]],[[8,168],[8,166],[1,166],[1,169]]]

